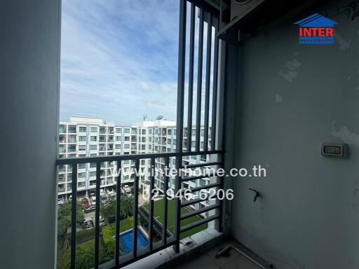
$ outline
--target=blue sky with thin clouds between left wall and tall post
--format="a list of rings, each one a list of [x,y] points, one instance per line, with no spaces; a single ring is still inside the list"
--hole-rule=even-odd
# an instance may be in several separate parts
[[[175,120],[177,0],[63,0],[60,120]]]

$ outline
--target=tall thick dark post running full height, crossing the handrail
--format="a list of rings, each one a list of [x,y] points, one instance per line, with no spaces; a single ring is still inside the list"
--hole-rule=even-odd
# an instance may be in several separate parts
[[[184,64],[186,54],[186,15],[187,14],[187,0],[180,0],[179,2],[179,53],[178,53],[178,88],[177,88],[177,133],[176,140],[177,153],[183,152],[183,106],[184,106]],[[176,184],[175,193],[181,188],[181,175],[179,167],[182,166],[182,156],[176,158]],[[177,195],[178,196],[178,195]],[[181,201],[179,197],[175,198],[175,251],[179,252],[179,234],[180,234],[180,214]]]

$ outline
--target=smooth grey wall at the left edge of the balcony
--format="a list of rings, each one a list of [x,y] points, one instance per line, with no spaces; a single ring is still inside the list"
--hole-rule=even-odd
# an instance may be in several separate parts
[[[0,267],[53,268],[60,0],[0,3]]]

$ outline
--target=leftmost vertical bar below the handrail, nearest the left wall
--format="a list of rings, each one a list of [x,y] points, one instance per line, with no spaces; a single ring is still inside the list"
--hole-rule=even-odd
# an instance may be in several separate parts
[[[76,268],[77,164],[72,165],[71,269]]]

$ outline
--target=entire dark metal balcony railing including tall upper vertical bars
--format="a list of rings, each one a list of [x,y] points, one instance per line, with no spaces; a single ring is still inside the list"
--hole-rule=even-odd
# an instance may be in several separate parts
[[[194,48],[195,48],[195,21],[196,10],[199,11],[199,31],[198,31],[198,78],[197,78],[197,103],[196,103],[196,140],[194,144],[194,151],[192,151],[191,142],[184,144],[184,85],[185,85],[185,55],[186,55],[186,29],[187,29],[187,1],[191,3],[190,8],[190,33],[189,33],[189,90],[188,90],[188,111],[187,111],[187,137],[192,137],[192,106],[193,106],[193,95],[194,95]],[[100,187],[101,187],[101,163],[104,162],[116,162],[117,170],[121,171],[123,162],[125,161],[134,161],[135,169],[138,172],[140,167],[140,160],[149,159],[151,165],[155,164],[156,158],[163,158],[164,165],[166,168],[172,167],[172,158],[175,158],[175,170],[177,175],[175,177],[175,193],[179,193],[182,190],[182,184],[186,181],[194,181],[198,179],[215,177],[215,181],[211,181],[210,184],[205,184],[203,186],[196,186],[190,188],[192,193],[199,192],[204,189],[210,188],[223,188],[223,177],[217,177],[216,174],[201,174],[196,175],[195,177],[182,177],[182,174],[178,173],[180,168],[184,167],[182,158],[184,156],[204,156],[210,155],[214,158],[210,158],[210,163],[199,163],[194,165],[189,165],[187,168],[194,169],[196,167],[205,167],[205,166],[215,166],[223,167],[223,152],[219,149],[221,141],[219,137],[216,137],[219,132],[217,132],[217,127],[219,128],[219,123],[217,119],[220,119],[223,116],[223,111],[218,111],[219,106],[217,105],[217,97],[219,97],[219,91],[217,90],[218,83],[218,60],[219,60],[219,39],[217,36],[214,37],[214,42],[212,42],[212,27],[215,27],[217,30],[219,24],[219,12],[214,10],[205,4],[205,1],[200,0],[180,0],[179,1],[179,55],[178,55],[178,88],[177,88],[177,133],[176,135],[176,149],[175,152],[165,152],[165,153],[145,153],[145,154],[133,154],[133,155],[114,155],[114,156],[91,156],[83,158],[59,158],[57,159],[57,165],[72,165],[72,225],[71,225],[71,268],[76,268],[76,197],[77,197],[77,165],[81,163],[96,163],[96,184],[95,184],[95,269],[97,268],[120,268],[124,265],[133,263],[134,261],[144,258],[151,254],[154,254],[161,249],[165,249],[170,246],[175,247],[175,251],[179,251],[179,242],[181,233],[184,233],[192,228],[203,225],[210,221],[217,221],[216,228],[219,231],[222,231],[222,200],[217,200],[215,204],[208,205],[206,207],[198,207],[198,209],[190,210],[186,214],[181,214],[182,207],[189,207],[197,203],[203,202],[207,198],[194,198],[191,200],[182,201],[178,196],[174,198],[175,202],[175,214],[174,214],[174,229],[173,233],[168,233],[168,181],[169,177],[166,175],[164,177],[163,184],[163,223],[162,223],[162,240],[154,242],[154,226],[155,230],[158,230],[158,221],[154,218],[154,200],[153,190],[154,190],[154,174],[151,174],[149,179],[149,244],[147,248],[137,249],[137,237],[138,237],[138,216],[139,216],[139,184],[140,184],[140,175],[137,173],[134,180],[134,215],[133,215],[133,249],[130,254],[126,254],[120,257],[120,207],[121,207],[121,175],[118,175],[116,181],[116,233],[115,233],[115,252],[114,260],[107,263],[99,264],[99,244],[100,244]],[[202,76],[203,76],[203,31],[204,23],[210,25],[207,32],[207,49],[206,49],[206,64],[205,64],[205,96],[204,96],[204,118],[201,118],[201,98],[202,98]],[[211,67],[211,53],[212,49],[214,52],[213,55],[213,67]],[[210,112],[210,82],[211,82],[211,69],[213,70],[213,79],[212,79],[212,109]],[[210,113],[211,125],[210,128]],[[222,113],[222,114],[221,114]],[[201,120],[204,122],[204,146],[203,151],[201,151]],[[209,134],[210,132],[210,134]],[[101,130],[100,130],[101,133]],[[132,134],[132,133],[131,133]],[[209,137],[210,145],[208,146]],[[132,140],[132,139],[131,139]],[[184,148],[185,146],[185,148]],[[160,148],[158,148],[159,150]],[[210,149],[210,150],[209,150]],[[162,180],[162,179],[161,179]],[[215,214],[211,214],[203,218],[203,214],[214,210]],[[181,226],[181,221],[188,219],[191,216],[201,216],[201,219],[192,223],[189,223],[185,226]],[[169,235],[169,236],[168,236]]]

